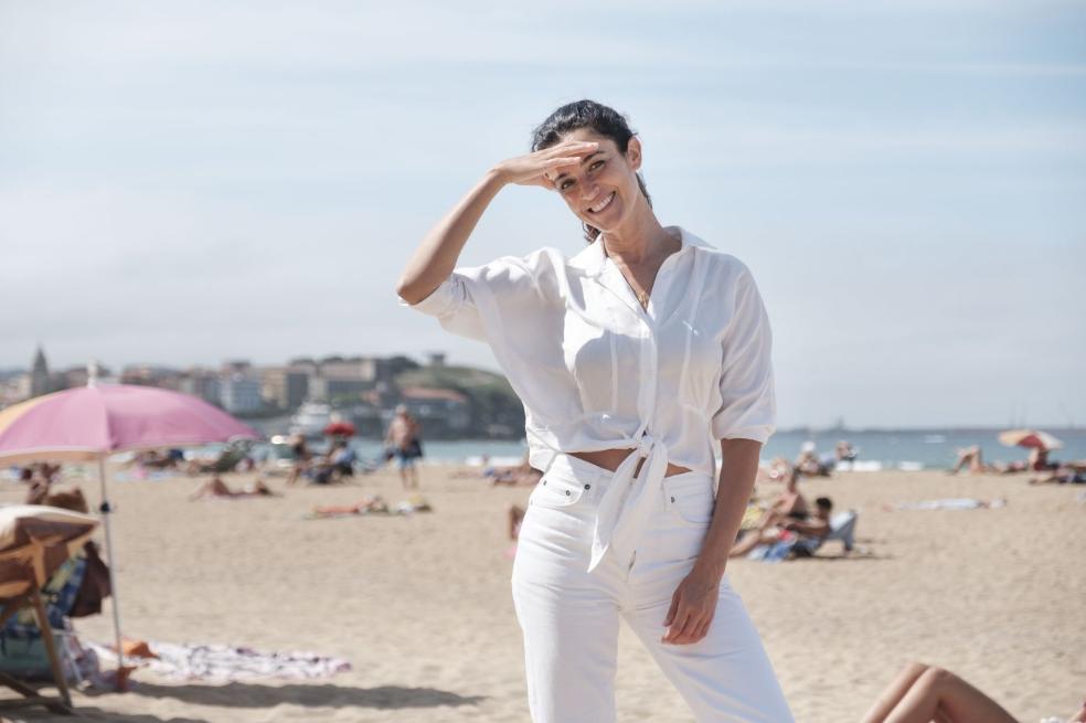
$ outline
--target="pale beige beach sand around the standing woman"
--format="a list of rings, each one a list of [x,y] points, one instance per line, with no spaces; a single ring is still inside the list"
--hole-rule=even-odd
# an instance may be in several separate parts
[[[308,649],[353,670],[315,681],[215,685],[137,672],[125,694],[75,694],[84,719],[127,723],[526,721],[504,510],[529,490],[427,467],[433,513],[311,521],[319,503],[405,497],[394,471],[276,499],[189,502],[193,480],[117,482],[114,536],[125,632],[146,640]],[[232,475],[238,485],[246,476]],[[96,486],[83,487],[96,503]],[[811,561],[733,561],[796,720],[859,721],[909,660],[955,670],[1019,720],[1069,715],[1086,693],[1082,487],[1023,477],[843,474],[803,483],[860,511],[867,556],[835,543]],[[765,492],[773,492],[766,488]],[[14,483],[0,502],[21,497]],[[884,511],[943,497],[1007,498],[977,511]],[[76,621],[111,640],[108,615]],[[691,721],[624,629],[620,721]],[[9,714],[9,717],[12,717]],[[71,720],[44,712],[12,720]]]

